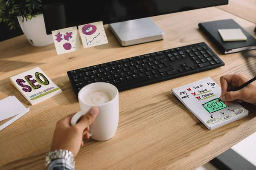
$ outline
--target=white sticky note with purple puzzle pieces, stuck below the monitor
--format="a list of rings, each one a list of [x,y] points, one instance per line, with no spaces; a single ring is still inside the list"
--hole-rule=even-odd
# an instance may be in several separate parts
[[[52,37],[58,55],[81,49],[76,26],[52,31]]]

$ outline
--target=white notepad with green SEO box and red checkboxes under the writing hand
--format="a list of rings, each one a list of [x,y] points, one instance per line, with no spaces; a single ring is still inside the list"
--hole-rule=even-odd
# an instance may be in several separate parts
[[[221,96],[221,88],[210,77],[174,88],[172,93],[209,130],[248,115],[248,111],[238,103],[231,102],[229,106],[222,101],[215,103]]]

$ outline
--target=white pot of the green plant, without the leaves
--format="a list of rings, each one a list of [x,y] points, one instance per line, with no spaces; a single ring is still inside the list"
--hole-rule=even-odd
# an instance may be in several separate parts
[[[46,46],[53,43],[52,34],[46,34],[43,14],[39,14],[28,21],[24,18],[24,22],[22,22],[22,17],[18,17],[18,21],[20,28],[30,44],[34,46]]]

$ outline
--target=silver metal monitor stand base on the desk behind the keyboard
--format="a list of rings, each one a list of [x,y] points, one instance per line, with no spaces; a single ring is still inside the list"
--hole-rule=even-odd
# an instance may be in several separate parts
[[[109,27],[122,46],[163,40],[163,30],[149,17],[113,23]]]

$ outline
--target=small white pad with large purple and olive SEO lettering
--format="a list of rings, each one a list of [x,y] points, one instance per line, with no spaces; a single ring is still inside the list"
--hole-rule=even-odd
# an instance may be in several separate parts
[[[62,92],[39,67],[11,77],[11,82],[31,105]]]

